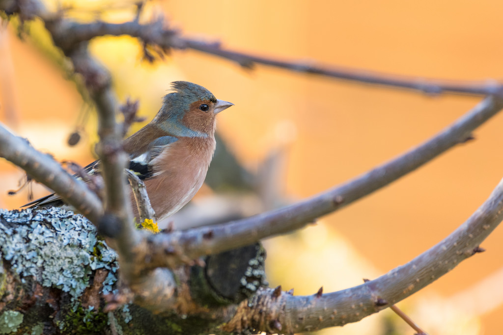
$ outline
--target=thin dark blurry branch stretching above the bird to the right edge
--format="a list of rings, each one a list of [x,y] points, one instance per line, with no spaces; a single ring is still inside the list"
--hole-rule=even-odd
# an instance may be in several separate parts
[[[65,21],[65,25],[61,26],[61,28],[68,32],[68,36],[65,38],[64,44],[61,44],[61,46],[66,47],[71,47],[74,44],[89,41],[98,36],[129,35],[139,38],[145,44],[157,45],[163,50],[172,48],[181,50],[197,50],[231,60],[247,68],[253,67],[255,64],[263,64],[295,72],[321,75],[342,80],[411,89],[432,95],[442,93],[472,95],[503,94],[503,84],[495,80],[433,80],[383,74],[361,69],[349,69],[338,66],[321,66],[316,65],[314,61],[286,61],[277,58],[237,52],[222,47],[219,42],[205,42],[202,40],[187,38],[176,29],[164,28],[164,24],[161,20],[146,24],[140,24],[136,20],[120,24],[107,23],[103,21],[96,21],[93,23]]]

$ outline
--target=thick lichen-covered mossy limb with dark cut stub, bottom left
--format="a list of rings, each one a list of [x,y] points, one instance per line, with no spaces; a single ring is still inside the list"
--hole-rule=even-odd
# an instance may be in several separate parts
[[[234,260],[227,263],[229,256]],[[249,246],[208,263],[150,272],[141,286],[151,289],[132,303],[116,304],[110,314],[107,302],[127,302],[130,295],[117,279],[117,254],[88,219],[56,207],[0,210],[0,331],[37,333],[45,324],[45,332],[90,334],[113,324],[124,333],[214,333],[233,317],[237,303],[264,285],[264,251]],[[194,273],[201,276],[191,282]],[[166,298],[166,289],[171,297],[156,308],[152,301]],[[222,298],[208,308],[207,297]]]

